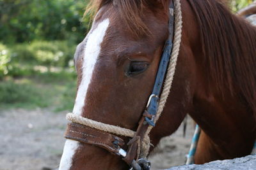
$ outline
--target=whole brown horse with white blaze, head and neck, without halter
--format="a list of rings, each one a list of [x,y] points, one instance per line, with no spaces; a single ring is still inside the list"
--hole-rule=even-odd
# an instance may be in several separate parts
[[[196,164],[248,155],[256,137],[256,29],[221,0],[180,1],[179,59],[170,96],[150,132],[152,148],[189,113],[202,129]],[[74,113],[136,131],[168,38],[169,3],[92,1],[97,15],[75,55]],[[67,139],[60,169],[129,166],[103,148]]]

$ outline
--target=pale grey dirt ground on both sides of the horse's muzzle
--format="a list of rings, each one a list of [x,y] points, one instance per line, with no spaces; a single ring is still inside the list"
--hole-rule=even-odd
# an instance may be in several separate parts
[[[0,169],[55,169],[60,162],[65,139],[66,112],[49,109],[0,110]],[[188,120],[186,137],[182,127],[164,138],[150,155],[152,170],[182,165],[189,150],[193,125]]]

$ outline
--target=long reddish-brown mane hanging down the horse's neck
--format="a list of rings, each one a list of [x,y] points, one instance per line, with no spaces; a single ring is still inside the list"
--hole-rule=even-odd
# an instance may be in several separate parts
[[[239,96],[256,113],[256,27],[221,0],[188,0],[196,13],[209,84]],[[208,75],[207,75],[208,76]]]

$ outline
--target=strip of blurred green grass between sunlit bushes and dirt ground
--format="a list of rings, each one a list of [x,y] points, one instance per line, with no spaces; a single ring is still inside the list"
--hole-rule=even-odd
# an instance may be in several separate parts
[[[76,96],[74,73],[44,73],[0,81],[0,109],[53,108],[71,111]]]

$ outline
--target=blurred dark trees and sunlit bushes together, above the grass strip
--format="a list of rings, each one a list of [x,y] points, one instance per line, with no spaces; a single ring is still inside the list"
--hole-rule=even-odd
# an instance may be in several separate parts
[[[0,80],[37,74],[38,66],[72,66],[76,45],[90,27],[90,18],[83,18],[87,3],[0,0]]]

